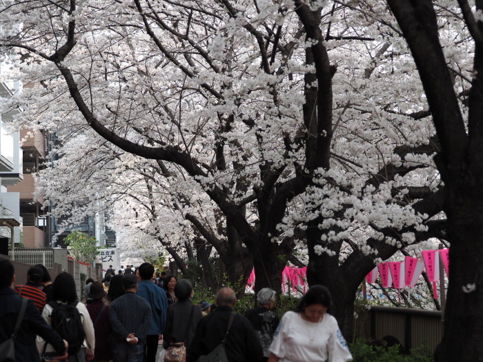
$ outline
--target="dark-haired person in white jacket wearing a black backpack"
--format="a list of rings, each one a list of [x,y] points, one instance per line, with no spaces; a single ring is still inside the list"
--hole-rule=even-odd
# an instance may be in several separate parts
[[[43,319],[68,341],[68,361],[83,362],[94,359],[95,334],[86,305],[79,302],[72,275],[57,275],[52,290],[54,301],[43,308]],[[37,339],[39,352],[50,352],[51,346]]]

